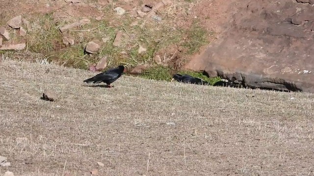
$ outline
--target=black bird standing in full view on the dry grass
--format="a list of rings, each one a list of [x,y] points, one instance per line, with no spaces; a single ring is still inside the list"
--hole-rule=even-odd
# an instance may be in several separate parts
[[[124,71],[124,66],[118,66],[116,68],[110,68],[103,73],[99,73],[99,74],[95,75],[94,77],[91,77],[89,79],[84,80],[83,82],[86,82],[86,83],[93,82],[94,84],[104,82],[110,88],[112,88],[112,86],[110,86],[110,84],[115,82],[122,75],[123,71]]]

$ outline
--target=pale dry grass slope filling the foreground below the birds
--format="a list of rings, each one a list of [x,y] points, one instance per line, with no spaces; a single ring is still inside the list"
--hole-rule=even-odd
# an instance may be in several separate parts
[[[88,87],[95,73],[79,69],[0,70],[0,154],[11,162],[0,175],[313,175],[312,94],[127,76]],[[57,102],[40,99],[46,88]]]

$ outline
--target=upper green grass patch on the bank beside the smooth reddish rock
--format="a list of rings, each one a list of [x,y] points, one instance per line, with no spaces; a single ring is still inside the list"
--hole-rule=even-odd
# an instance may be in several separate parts
[[[202,45],[209,43],[207,39],[207,35],[209,34],[199,25],[198,21],[192,23],[191,28],[186,31],[186,34],[187,39],[182,46],[187,48],[187,54],[198,52]]]

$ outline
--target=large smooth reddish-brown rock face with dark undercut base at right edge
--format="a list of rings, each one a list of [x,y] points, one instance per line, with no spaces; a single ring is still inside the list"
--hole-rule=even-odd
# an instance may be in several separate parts
[[[185,68],[249,88],[314,92],[314,8],[301,1],[241,2],[221,37]]]

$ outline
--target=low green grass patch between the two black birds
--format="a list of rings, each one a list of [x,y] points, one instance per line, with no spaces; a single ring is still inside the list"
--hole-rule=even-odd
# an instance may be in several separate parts
[[[171,68],[168,66],[152,66],[146,69],[140,77],[153,80],[170,81],[172,79]]]

